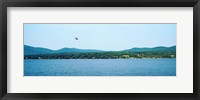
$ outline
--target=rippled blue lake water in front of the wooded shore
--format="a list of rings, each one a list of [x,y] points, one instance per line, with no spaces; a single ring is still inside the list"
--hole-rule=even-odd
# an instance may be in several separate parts
[[[176,76],[176,59],[24,60],[24,76]]]

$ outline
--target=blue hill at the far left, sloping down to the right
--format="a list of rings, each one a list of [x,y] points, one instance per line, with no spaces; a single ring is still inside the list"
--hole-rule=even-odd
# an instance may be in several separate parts
[[[32,55],[32,54],[48,54],[52,53],[53,50],[40,48],[40,47],[31,47],[24,45],[24,55]]]

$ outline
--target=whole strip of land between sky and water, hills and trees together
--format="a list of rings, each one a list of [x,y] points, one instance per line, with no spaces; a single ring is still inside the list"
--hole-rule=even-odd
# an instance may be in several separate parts
[[[133,59],[176,58],[176,46],[154,48],[132,48],[121,51],[62,48],[50,50],[24,46],[24,59]]]

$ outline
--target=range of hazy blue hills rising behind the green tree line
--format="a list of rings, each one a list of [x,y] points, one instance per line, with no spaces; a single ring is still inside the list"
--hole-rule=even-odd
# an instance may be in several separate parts
[[[176,51],[176,46],[172,47],[154,47],[154,48],[132,48],[127,50],[122,50],[122,52],[149,52],[149,51]],[[77,49],[77,48],[62,48],[59,50],[51,50],[41,47],[31,47],[24,45],[24,55],[35,55],[35,54],[55,54],[55,53],[88,53],[88,52],[107,52],[103,50],[93,50],[93,49]],[[115,51],[113,51],[115,52]]]

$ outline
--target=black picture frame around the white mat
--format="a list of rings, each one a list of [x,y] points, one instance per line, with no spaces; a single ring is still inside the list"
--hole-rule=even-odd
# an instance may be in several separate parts
[[[1,100],[199,100],[200,0],[1,0]],[[193,93],[7,93],[7,7],[193,7]]]

